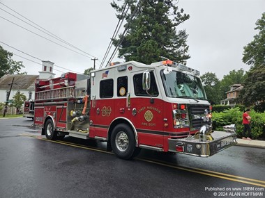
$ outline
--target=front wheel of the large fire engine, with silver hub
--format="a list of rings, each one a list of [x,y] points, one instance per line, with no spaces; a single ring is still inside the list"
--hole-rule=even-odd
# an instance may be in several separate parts
[[[126,124],[118,124],[114,127],[110,138],[112,150],[116,156],[124,160],[133,158],[135,147],[135,135]]]

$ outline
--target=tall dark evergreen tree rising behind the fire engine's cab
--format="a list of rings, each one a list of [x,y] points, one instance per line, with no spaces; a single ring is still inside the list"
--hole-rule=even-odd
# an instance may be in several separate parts
[[[128,28],[126,35],[119,35],[119,39],[113,40],[114,46],[119,46],[119,58],[126,61],[136,60],[141,63],[154,63],[161,60],[161,56],[175,60],[178,63],[186,63],[188,55],[188,38],[185,30],[177,31],[177,26],[189,19],[189,15],[183,9],[175,6],[173,0],[145,0],[139,1],[137,9],[136,0],[125,0],[122,6],[116,2],[111,5],[118,19],[125,17]],[[125,16],[123,8],[130,8]],[[137,9],[137,15],[133,13]]]

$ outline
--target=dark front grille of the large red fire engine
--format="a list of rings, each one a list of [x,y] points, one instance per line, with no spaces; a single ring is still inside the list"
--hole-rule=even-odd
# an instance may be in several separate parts
[[[204,110],[209,109],[209,105],[190,105],[189,117],[190,117],[190,129],[200,129],[204,124],[211,125],[211,119],[209,122],[204,122]]]

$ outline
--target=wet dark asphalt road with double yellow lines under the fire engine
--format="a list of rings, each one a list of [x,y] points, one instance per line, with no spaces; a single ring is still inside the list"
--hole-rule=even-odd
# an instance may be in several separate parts
[[[105,149],[101,142],[47,141],[31,124],[0,119],[0,197],[265,196],[264,149],[234,146],[210,158],[142,150],[134,160],[121,160],[87,149]]]

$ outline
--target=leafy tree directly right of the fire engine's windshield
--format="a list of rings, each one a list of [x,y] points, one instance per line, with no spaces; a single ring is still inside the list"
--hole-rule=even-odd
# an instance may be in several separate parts
[[[220,94],[220,80],[215,73],[206,72],[201,76],[202,83],[209,102],[214,104],[220,104],[222,95]]]

